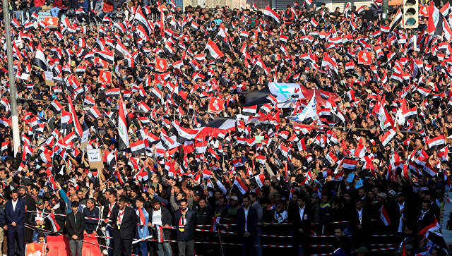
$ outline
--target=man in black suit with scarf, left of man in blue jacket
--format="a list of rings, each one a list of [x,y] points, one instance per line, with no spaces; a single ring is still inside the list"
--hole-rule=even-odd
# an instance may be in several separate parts
[[[126,207],[126,197],[121,196],[117,202],[118,207],[112,211],[113,227],[113,255],[120,256],[124,250],[124,255],[132,253],[132,239],[135,237],[138,224],[138,217],[131,207]]]

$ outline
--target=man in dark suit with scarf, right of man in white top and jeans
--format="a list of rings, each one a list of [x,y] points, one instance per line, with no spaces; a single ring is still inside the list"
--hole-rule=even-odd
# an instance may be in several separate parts
[[[179,256],[195,255],[196,212],[188,209],[189,202],[183,198],[179,201],[179,209],[174,212],[174,223],[177,227],[177,247]]]

